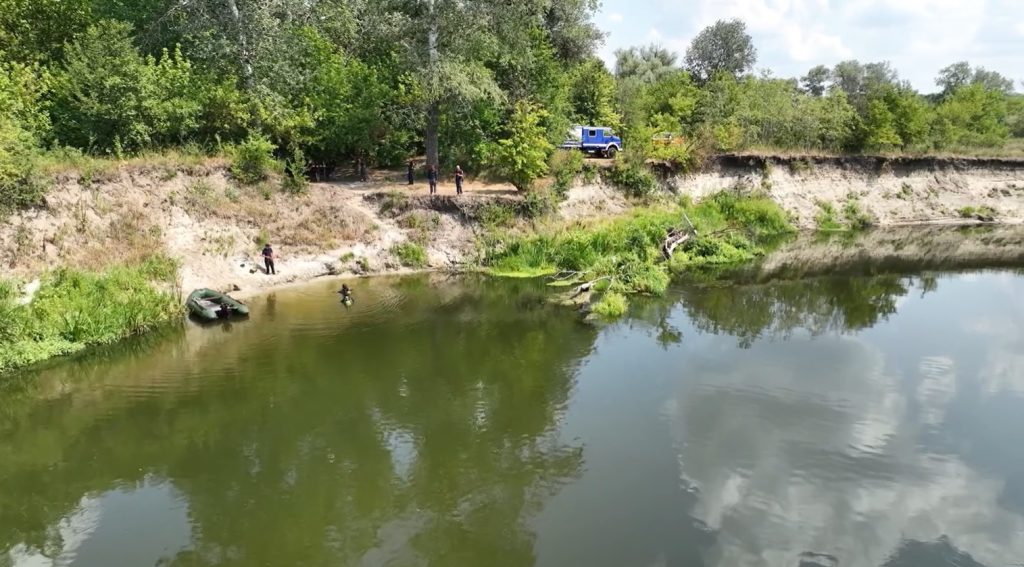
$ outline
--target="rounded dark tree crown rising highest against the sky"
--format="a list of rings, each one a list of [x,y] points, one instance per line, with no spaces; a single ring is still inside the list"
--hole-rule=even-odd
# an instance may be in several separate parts
[[[719,74],[745,73],[757,59],[758,50],[746,25],[740,19],[720,19],[693,39],[686,51],[686,69],[698,81],[707,82]]]

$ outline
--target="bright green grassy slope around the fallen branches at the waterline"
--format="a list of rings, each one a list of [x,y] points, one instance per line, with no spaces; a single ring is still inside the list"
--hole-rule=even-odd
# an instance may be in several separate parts
[[[696,236],[666,260],[662,244],[669,230],[689,228],[690,223]],[[683,199],[540,234],[493,234],[482,264],[501,276],[560,274],[564,281],[595,280],[603,292],[595,310],[615,316],[625,311],[628,295],[665,293],[673,272],[752,260],[768,239],[794,230],[771,200],[722,192],[697,205]]]

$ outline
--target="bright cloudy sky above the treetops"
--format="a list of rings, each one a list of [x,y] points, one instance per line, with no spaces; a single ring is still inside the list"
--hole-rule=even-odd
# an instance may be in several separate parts
[[[758,69],[800,76],[818,63],[889,60],[925,92],[938,70],[969,60],[1017,80],[1024,90],[1024,0],[603,0],[601,55],[657,43],[682,58],[716,19],[746,23]]]

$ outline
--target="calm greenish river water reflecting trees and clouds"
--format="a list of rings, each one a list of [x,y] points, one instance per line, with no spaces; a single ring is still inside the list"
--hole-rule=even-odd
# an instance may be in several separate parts
[[[1024,277],[856,271],[318,282],[15,377],[0,566],[1020,565]]]

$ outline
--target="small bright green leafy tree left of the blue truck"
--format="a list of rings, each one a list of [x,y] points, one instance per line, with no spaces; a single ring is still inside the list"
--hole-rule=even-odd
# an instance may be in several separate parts
[[[547,113],[525,101],[517,102],[509,120],[508,136],[498,141],[490,163],[498,174],[520,191],[548,172],[548,155],[554,149],[541,123]]]

